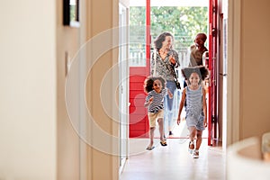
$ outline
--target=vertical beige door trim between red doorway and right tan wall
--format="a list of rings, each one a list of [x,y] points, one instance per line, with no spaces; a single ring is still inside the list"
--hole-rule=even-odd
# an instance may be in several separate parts
[[[228,0],[227,138],[223,143],[226,147],[239,140],[240,37],[241,2]]]

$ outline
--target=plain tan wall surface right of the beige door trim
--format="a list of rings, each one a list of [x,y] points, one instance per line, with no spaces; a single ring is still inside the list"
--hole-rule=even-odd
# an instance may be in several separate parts
[[[241,1],[240,139],[270,131],[269,6],[268,0]]]

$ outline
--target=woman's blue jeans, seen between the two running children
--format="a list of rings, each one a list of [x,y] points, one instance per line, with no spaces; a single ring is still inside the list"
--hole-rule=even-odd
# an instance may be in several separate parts
[[[175,81],[166,81],[166,88],[174,95],[176,90]],[[164,113],[164,126],[166,126],[166,121],[168,125],[168,130],[172,130],[172,120],[173,120],[173,108],[174,108],[174,98],[169,98],[169,95],[165,96],[165,113]]]

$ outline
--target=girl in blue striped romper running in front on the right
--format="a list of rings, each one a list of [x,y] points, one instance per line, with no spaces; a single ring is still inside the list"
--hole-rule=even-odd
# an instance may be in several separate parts
[[[185,121],[189,130],[190,142],[188,149],[194,158],[199,157],[199,148],[202,143],[202,130],[207,127],[207,104],[206,91],[202,86],[202,80],[208,75],[205,67],[186,67],[182,69],[182,74],[187,81],[184,87],[182,99],[179,105],[177,124],[180,123],[181,112],[185,106]],[[195,142],[195,137],[196,142]]]

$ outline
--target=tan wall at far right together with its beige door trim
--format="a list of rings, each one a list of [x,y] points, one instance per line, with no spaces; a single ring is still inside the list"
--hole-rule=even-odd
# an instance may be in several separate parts
[[[266,0],[229,0],[227,145],[270,131]]]

